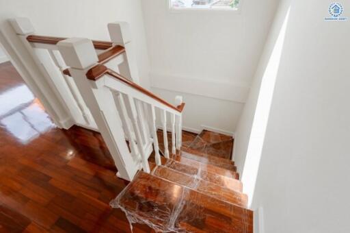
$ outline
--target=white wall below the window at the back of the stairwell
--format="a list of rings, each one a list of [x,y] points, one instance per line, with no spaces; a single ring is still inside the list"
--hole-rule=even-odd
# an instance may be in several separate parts
[[[186,127],[235,131],[277,2],[244,0],[239,14],[142,2],[153,90],[186,93]]]

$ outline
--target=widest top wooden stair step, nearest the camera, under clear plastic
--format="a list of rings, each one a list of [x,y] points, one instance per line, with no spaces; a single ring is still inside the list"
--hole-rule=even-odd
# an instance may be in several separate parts
[[[159,232],[253,232],[253,212],[140,172],[111,202]]]

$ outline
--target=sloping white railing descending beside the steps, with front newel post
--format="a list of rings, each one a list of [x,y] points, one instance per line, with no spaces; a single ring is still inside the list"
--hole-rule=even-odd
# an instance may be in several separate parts
[[[116,25],[109,24],[109,29],[120,28],[118,23]],[[122,31],[123,29],[119,32]],[[113,32],[113,41],[112,35]],[[120,41],[114,40],[113,43],[119,45]],[[116,161],[120,177],[132,180],[139,169],[150,173],[148,158],[153,147],[156,163],[161,164],[156,127],[157,113],[161,115],[163,125],[165,157],[169,158],[167,115],[170,115],[172,125],[172,153],[175,154],[176,149],[180,149],[182,108],[172,106],[129,78],[103,64],[98,64],[91,40],[70,38],[58,42],[57,46],[66,64],[70,66],[70,74],[77,82]],[[181,106],[182,98],[176,99],[178,106]]]

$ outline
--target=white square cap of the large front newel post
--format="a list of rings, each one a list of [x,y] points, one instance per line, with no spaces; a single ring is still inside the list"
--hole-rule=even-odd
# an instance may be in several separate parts
[[[86,69],[98,62],[92,41],[86,38],[69,38],[57,43],[64,62],[75,69]]]

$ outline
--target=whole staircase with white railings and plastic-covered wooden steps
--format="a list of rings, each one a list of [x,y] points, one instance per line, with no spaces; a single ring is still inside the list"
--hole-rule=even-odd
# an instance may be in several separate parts
[[[33,58],[18,68],[38,84],[56,125],[100,132],[118,177],[131,182],[111,202],[124,210],[131,226],[143,223],[156,232],[253,232],[253,212],[230,160],[233,138],[207,130],[183,132],[183,98],[172,104],[139,85],[128,23],[109,23],[111,42],[36,35],[25,18],[10,24],[23,42],[18,56]],[[44,82],[68,117],[54,108]]]

